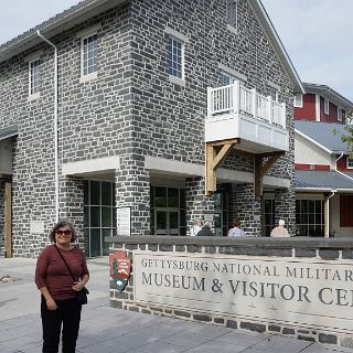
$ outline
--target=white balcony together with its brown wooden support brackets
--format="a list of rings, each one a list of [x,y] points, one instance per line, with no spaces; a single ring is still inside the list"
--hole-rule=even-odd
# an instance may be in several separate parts
[[[254,190],[259,199],[265,174],[289,150],[286,105],[240,83],[207,88],[205,145],[206,195],[216,191],[216,170],[233,153],[254,159]]]

